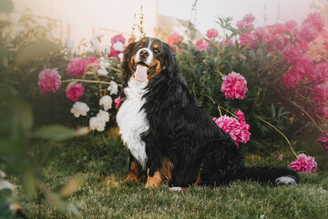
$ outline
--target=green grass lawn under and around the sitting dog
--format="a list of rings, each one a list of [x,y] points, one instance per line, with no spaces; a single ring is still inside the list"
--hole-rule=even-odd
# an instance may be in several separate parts
[[[51,143],[31,141],[31,159],[44,156],[40,147]],[[328,171],[323,168],[301,174],[301,182],[292,186],[235,182],[171,192],[165,185],[145,189],[144,184],[122,183],[128,174],[128,151],[120,141],[87,136],[66,141],[50,154],[50,162],[39,171],[53,190],[59,191],[76,176],[85,177],[84,185],[67,198],[82,218],[328,218]],[[294,159],[289,152],[284,154],[282,161],[277,154],[247,155],[246,164],[287,166]],[[318,158],[320,167],[327,154]],[[26,199],[18,177],[11,180],[18,184],[16,195],[29,218],[76,218],[42,198]]]

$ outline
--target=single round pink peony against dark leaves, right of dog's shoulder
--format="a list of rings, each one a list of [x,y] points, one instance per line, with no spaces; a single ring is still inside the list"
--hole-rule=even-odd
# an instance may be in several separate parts
[[[231,72],[224,76],[220,90],[223,92],[226,99],[244,99],[247,92],[247,81],[240,73]]]

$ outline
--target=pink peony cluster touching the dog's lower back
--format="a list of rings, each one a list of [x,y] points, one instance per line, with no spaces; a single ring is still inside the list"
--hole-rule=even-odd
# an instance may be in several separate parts
[[[244,114],[241,110],[236,112],[239,120],[229,116],[222,116],[219,119],[214,118],[214,122],[220,127],[221,130],[228,133],[235,144],[239,146],[240,142],[246,143],[250,140],[251,132],[250,125],[246,123]]]

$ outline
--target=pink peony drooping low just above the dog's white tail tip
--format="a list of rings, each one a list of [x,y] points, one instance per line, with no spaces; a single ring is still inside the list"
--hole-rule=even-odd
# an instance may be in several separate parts
[[[318,164],[314,161],[313,157],[306,156],[302,153],[295,162],[290,163],[290,166],[296,172],[315,172]]]

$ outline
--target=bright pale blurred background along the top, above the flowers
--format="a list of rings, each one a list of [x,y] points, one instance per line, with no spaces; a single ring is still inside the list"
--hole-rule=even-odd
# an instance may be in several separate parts
[[[251,13],[257,17],[256,26],[290,19],[300,24],[318,5],[324,5],[318,0],[14,0],[13,4],[14,11],[1,16],[18,22],[27,14],[40,24],[51,21],[53,35],[63,40],[69,37],[75,45],[95,33],[102,33],[105,43],[117,34],[129,37],[140,15],[147,36],[166,38],[173,32],[184,36],[189,21],[199,31],[197,35],[204,36],[208,29],[218,27],[218,17],[232,16],[236,23]],[[17,26],[17,30],[22,28]]]

